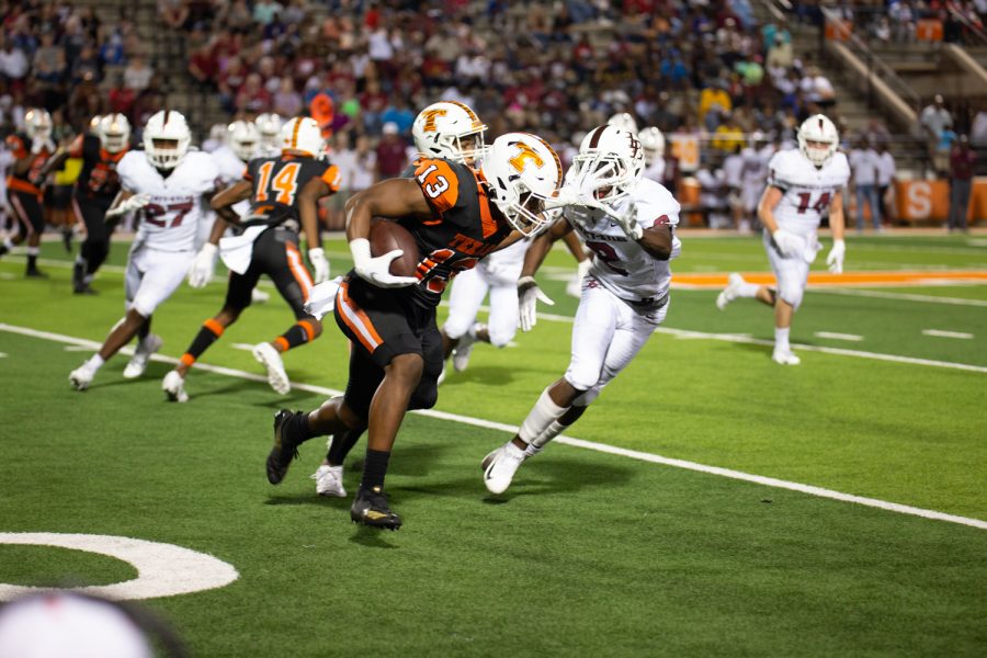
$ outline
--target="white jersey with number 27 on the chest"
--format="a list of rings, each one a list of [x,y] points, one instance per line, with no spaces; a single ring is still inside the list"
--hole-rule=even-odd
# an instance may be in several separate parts
[[[195,248],[204,217],[201,197],[215,189],[218,174],[209,154],[189,151],[168,177],[162,177],[144,151],[129,151],[116,172],[124,190],[150,195],[150,203],[140,211],[136,243],[160,251]]]

